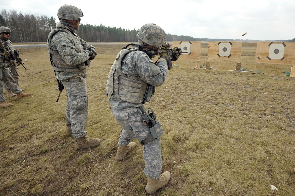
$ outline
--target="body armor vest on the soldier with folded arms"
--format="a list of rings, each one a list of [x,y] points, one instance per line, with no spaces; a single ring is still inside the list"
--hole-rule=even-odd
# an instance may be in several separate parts
[[[74,41],[75,44],[75,48],[77,52],[83,52],[83,46],[81,44],[81,42],[79,41],[78,37],[76,37],[73,33],[71,33],[69,30],[67,29],[54,29],[52,32],[50,32],[49,36],[48,36],[48,40],[47,40],[47,47],[48,47],[48,53],[49,53],[49,58],[50,58],[50,62],[51,65],[53,66],[53,69],[55,71],[64,71],[64,72],[76,72],[76,73],[83,73],[86,72],[87,67],[86,67],[86,62],[83,62],[79,65],[68,65],[60,56],[60,54],[58,52],[55,52],[52,50],[52,46],[51,46],[51,39],[53,37],[53,35],[57,32],[65,32],[67,34],[69,34],[71,36],[71,38]],[[89,66],[89,62],[87,62],[88,66]]]

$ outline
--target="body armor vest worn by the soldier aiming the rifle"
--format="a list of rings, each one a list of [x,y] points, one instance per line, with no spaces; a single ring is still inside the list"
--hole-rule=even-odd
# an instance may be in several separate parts
[[[130,47],[119,52],[109,73],[106,84],[106,96],[111,96],[113,94],[116,97],[119,96],[122,101],[135,104],[144,104],[146,101],[150,101],[152,94],[147,93],[149,84],[141,80],[139,76],[127,77],[127,75],[121,71],[123,57],[129,52],[137,50],[139,50],[138,47]],[[114,88],[114,86],[116,88]]]

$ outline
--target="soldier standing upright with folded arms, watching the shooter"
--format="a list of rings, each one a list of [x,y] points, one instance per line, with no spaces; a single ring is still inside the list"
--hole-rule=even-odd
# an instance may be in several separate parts
[[[75,149],[93,148],[100,139],[86,138],[85,127],[88,119],[88,94],[86,70],[90,60],[96,57],[96,49],[87,44],[75,32],[83,17],[80,9],[63,5],[57,13],[60,22],[48,35],[47,47],[51,65],[59,85],[66,89],[66,131],[71,131]]]

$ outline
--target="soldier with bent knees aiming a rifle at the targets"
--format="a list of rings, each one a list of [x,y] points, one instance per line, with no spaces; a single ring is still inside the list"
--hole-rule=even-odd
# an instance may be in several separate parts
[[[150,50],[158,50],[166,39],[165,31],[156,24],[143,25],[137,33],[138,44],[123,47],[117,55],[106,85],[111,111],[116,121],[122,126],[117,149],[117,160],[123,160],[136,147],[136,138],[142,145],[145,168],[148,177],[145,190],[152,194],[165,187],[170,172],[162,172],[162,155],[160,136],[163,134],[161,124],[148,122],[148,113],[143,104],[150,101],[155,86],[164,83],[167,76],[167,56],[160,56],[153,63]],[[179,54],[172,55],[177,60]],[[150,110],[151,108],[149,108]],[[155,116],[153,116],[155,120]],[[153,131],[153,134],[152,134]],[[156,137],[154,137],[156,135]]]

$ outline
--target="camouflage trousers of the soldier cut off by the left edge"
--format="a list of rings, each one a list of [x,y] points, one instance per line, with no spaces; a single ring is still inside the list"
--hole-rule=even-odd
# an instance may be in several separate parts
[[[0,78],[2,78],[2,80],[0,81],[0,101],[5,100],[5,98],[3,96],[3,85],[4,84],[6,84],[13,93],[22,92],[22,90],[20,90],[17,87],[17,83],[14,81],[13,75],[8,68],[3,69],[3,67],[0,67],[0,72],[1,72]]]

